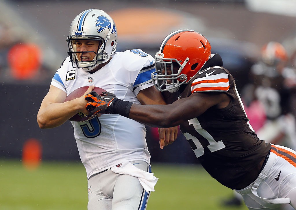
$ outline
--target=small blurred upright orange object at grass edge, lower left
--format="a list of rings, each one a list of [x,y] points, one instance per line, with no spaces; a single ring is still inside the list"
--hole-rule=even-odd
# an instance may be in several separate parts
[[[25,141],[22,149],[22,163],[28,169],[36,169],[41,163],[42,146],[36,139]]]

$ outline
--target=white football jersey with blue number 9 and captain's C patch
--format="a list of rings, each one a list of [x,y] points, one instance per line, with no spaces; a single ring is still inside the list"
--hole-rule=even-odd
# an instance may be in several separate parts
[[[136,95],[153,86],[153,71],[153,57],[140,49],[115,53],[107,65],[92,74],[73,68],[67,57],[51,85],[64,90],[67,95],[79,87],[94,85],[114,93],[119,99],[139,104]],[[87,178],[123,160],[141,160],[150,164],[143,124],[118,114],[102,114],[86,122],[70,122]]]

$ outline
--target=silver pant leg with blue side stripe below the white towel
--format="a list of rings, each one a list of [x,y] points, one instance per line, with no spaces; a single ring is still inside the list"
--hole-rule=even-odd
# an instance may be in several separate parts
[[[151,167],[145,161],[132,161],[137,168],[151,173]],[[120,175],[115,183],[112,210],[146,209],[150,192],[147,193],[137,177]]]

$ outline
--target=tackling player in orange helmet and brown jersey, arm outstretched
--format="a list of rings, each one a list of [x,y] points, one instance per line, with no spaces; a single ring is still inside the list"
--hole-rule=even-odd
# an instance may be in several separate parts
[[[296,152],[260,140],[244,111],[234,78],[211,54],[208,40],[192,30],[170,33],[155,55],[154,85],[168,105],[138,105],[90,92],[107,106],[88,103],[90,114],[118,113],[149,126],[180,125],[205,170],[235,189],[249,209],[296,208]],[[104,104],[105,104],[104,102]]]

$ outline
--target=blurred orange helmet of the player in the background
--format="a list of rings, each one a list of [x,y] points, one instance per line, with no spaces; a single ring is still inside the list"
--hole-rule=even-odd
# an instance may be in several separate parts
[[[287,61],[285,48],[279,42],[270,41],[261,49],[262,61],[268,65],[276,65],[280,61]]]

